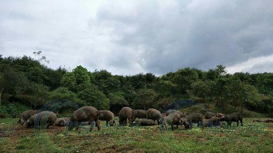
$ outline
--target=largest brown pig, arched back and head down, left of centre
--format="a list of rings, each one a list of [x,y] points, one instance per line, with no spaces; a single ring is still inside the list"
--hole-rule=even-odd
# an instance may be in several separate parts
[[[98,111],[95,107],[80,107],[72,113],[70,122],[68,123],[68,130],[71,131],[73,128],[75,128],[77,131],[81,122],[89,122],[89,131],[92,131],[94,123],[96,124],[98,130],[100,130],[100,122],[98,121],[99,114],[100,111]]]

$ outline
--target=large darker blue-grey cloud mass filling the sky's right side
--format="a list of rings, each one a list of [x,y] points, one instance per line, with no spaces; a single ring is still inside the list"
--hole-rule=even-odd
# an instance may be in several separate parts
[[[127,46],[136,52],[142,48],[139,56],[144,63],[125,56],[120,56],[121,62],[135,60],[145,71],[157,74],[187,66],[231,66],[272,53],[272,1],[176,2],[144,1],[129,11],[119,4],[101,6],[95,22],[111,29],[107,35],[117,48]],[[111,59],[109,63],[119,64]]]

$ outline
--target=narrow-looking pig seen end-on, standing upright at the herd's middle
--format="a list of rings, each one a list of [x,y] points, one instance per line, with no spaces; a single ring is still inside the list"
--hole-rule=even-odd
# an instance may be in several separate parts
[[[123,107],[119,112],[120,125],[127,125],[127,119],[130,123],[134,121],[134,109],[130,107]]]

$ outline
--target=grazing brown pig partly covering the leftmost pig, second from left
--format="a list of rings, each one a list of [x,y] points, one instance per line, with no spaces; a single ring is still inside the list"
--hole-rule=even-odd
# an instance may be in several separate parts
[[[46,122],[46,128],[48,129],[51,125],[53,126],[54,129],[54,123],[57,119],[57,116],[54,112],[52,111],[42,111],[39,112],[35,115],[32,115],[27,121],[26,121],[26,126],[30,127],[37,122],[37,125],[41,125],[41,123]]]

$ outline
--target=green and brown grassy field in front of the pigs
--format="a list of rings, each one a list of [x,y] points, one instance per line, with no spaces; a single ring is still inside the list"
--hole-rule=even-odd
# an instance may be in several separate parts
[[[160,126],[105,127],[68,132],[65,127],[39,132],[16,125],[17,119],[0,119],[0,152],[273,152],[273,123],[243,127],[197,128],[162,131]],[[118,119],[116,119],[118,120]]]

